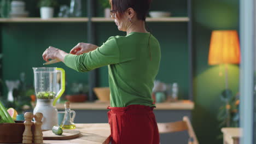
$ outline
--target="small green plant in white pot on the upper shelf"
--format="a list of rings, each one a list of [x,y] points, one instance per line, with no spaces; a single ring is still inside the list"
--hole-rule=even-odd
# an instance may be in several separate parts
[[[41,19],[49,19],[53,17],[54,7],[58,5],[56,0],[40,0],[38,7],[40,8]]]

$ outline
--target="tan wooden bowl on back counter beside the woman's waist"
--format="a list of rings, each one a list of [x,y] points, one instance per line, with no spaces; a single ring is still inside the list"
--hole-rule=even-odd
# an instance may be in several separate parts
[[[100,101],[110,100],[110,89],[109,87],[95,87],[94,92]]]

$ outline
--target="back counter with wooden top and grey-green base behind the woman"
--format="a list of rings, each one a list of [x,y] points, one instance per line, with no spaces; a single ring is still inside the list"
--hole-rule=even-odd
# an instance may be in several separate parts
[[[107,123],[107,107],[109,102],[95,101],[94,103],[71,103],[71,110],[75,111],[74,123]],[[58,111],[64,111],[64,104],[56,104]],[[194,109],[193,101],[179,100],[165,103],[157,103],[154,109],[156,121],[159,123],[181,121],[183,116],[191,117],[191,110]],[[187,131],[179,135],[162,134],[161,143],[168,143],[170,140],[185,143],[184,136]],[[182,140],[182,141],[181,141]]]

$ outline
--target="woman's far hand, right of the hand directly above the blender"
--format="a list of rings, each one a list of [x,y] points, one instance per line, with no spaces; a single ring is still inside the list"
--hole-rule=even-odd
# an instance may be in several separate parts
[[[78,43],[70,53],[73,55],[82,55],[83,53],[87,53],[97,49],[97,45],[87,44],[87,43]]]

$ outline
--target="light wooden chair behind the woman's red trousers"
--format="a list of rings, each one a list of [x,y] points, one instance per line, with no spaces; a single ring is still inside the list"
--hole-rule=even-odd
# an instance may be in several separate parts
[[[188,130],[189,138],[193,138],[193,144],[199,144],[197,141],[193,127],[187,116],[183,117],[183,121],[171,122],[171,123],[158,123],[159,134],[173,133],[177,131]]]

